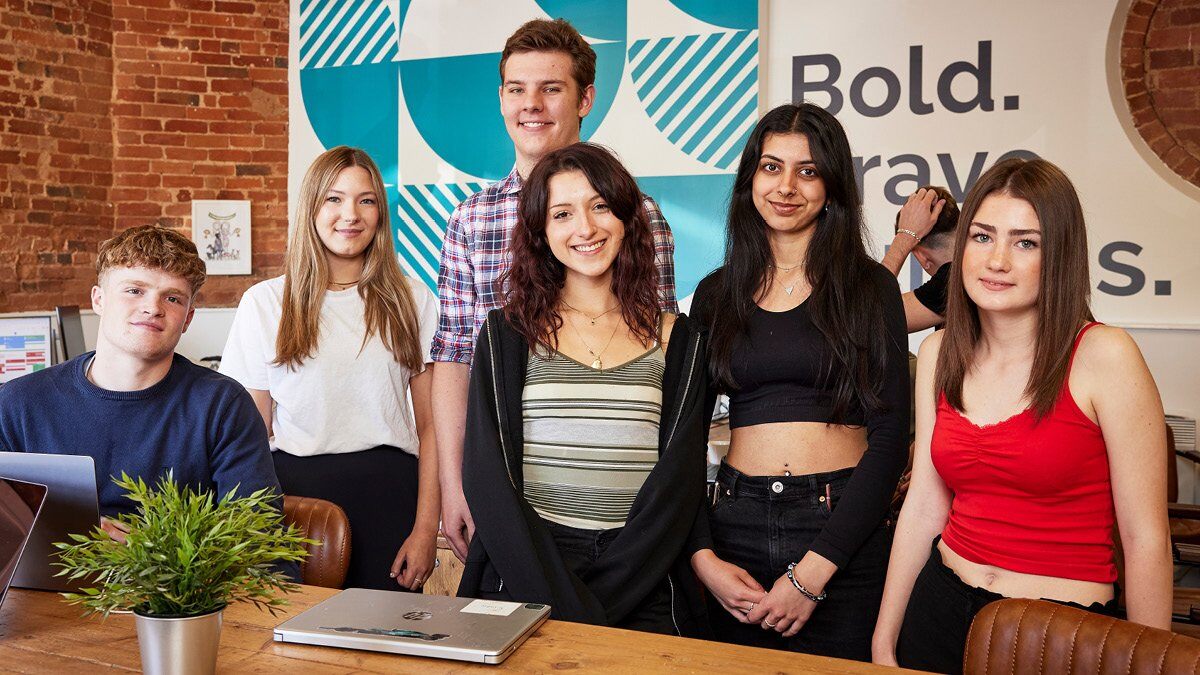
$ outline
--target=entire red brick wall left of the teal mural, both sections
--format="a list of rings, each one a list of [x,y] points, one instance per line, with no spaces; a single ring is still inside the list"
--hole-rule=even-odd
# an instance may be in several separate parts
[[[100,241],[251,199],[254,275],[287,235],[287,0],[0,0],[0,311],[88,303]]]

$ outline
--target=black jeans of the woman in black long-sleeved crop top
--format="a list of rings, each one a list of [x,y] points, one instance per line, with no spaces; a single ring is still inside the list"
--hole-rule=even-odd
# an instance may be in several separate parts
[[[722,464],[709,513],[716,555],[770,590],[787,563],[804,557],[838,506],[853,468],[809,476],[745,476]],[[826,586],[828,598],[792,638],[734,620],[709,597],[716,639],[726,643],[870,661],[883,598],[892,519],[880,522]]]

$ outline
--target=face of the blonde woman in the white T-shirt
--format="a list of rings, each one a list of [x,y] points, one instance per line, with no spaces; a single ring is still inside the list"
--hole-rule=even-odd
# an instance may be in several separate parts
[[[371,174],[362,167],[346,167],[322,198],[316,227],[325,257],[331,264],[361,261],[379,226],[379,196]]]

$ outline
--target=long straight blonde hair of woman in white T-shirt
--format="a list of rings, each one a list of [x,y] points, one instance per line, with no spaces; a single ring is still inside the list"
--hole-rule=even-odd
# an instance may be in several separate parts
[[[320,331],[320,304],[329,287],[329,262],[325,246],[317,235],[316,217],[325,193],[347,167],[361,167],[371,175],[371,187],[379,204],[379,223],[367,244],[359,295],[365,305],[366,333],[361,350],[371,336],[379,335],[396,362],[413,371],[424,365],[416,303],[396,262],[391,240],[388,192],[374,161],[358,148],[338,145],[317,157],[300,185],[296,221],[288,234],[284,258],[283,316],[275,339],[275,364],[289,369],[311,358]]]

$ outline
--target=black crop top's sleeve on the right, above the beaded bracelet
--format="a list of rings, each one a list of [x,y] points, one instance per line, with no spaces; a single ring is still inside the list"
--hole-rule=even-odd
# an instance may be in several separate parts
[[[883,265],[876,267],[871,280],[880,293],[887,330],[887,356],[880,374],[883,408],[866,411],[866,452],[811,546],[814,552],[839,568],[845,567],[887,516],[900,473],[908,464],[908,418],[912,413],[904,303],[895,277]]]

